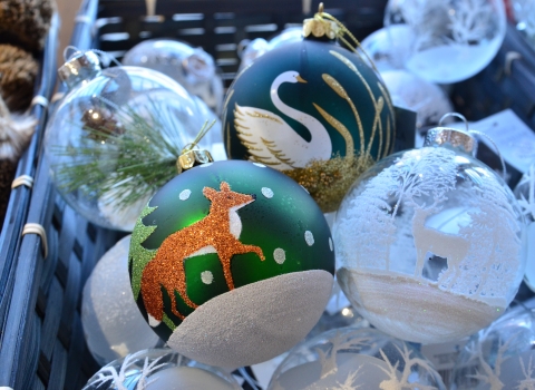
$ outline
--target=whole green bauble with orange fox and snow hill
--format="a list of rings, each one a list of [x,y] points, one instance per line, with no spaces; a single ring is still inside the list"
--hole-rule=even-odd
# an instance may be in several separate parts
[[[132,287],[149,324],[179,353],[221,367],[271,359],[304,338],[329,300],[333,267],[314,201],[249,162],[175,177],[130,244]]]

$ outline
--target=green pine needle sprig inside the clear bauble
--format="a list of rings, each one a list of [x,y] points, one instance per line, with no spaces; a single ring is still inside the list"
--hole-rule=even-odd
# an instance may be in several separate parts
[[[172,108],[147,101],[143,114],[130,106],[116,109],[120,131],[85,126],[79,146],[51,147],[56,156],[67,157],[52,167],[58,186],[89,197],[107,195],[107,202],[124,208],[176,176],[185,146],[178,145],[182,125]]]

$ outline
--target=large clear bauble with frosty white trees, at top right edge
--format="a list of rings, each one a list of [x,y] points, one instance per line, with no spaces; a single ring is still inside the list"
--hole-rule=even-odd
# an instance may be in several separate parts
[[[505,37],[503,0],[389,0],[387,28],[409,42],[405,67],[431,82],[465,80],[485,68]]]

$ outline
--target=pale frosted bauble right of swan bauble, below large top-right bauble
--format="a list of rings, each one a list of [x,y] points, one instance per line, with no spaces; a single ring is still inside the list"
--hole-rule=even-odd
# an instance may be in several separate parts
[[[407,70],[381,71],[393,105],[418,114],[417,128],[436,126],[440,118],[454,110],[444,90]]]

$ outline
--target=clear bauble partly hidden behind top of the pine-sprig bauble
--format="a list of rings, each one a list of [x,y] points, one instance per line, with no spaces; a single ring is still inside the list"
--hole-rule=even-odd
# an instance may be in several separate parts
[[[123,65],[154,69],[171,77],[215,113],[223,105],[223,80],[202,48],[172,39],[149,39],[125,53]]]

